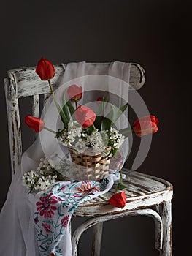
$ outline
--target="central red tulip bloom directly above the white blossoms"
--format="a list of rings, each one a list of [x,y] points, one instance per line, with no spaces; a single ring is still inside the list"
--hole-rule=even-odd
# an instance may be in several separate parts
[[[85,129],[94,123],[96,119],[96,113],[94,113],[91,108],[79,106],[77,110],[74,111],[74,117],[76,118],[77,122],[81,124]]]

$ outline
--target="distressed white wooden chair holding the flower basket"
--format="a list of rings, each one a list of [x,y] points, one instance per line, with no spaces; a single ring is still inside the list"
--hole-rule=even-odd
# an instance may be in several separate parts
[[[9,146],[11,156],[12,175],[14,176],[20,165],[22,155],[22,137],[20,128],[19,101],[21,97],[32,98],[34,116],[39,116],[39,96],[44,99],[50,95],[50,88],[46,81],[39,79],[34,72],[35,67],[12,69],[4,79],[4,89],[7,102],[7,118],[9,127]],[[55,81],[64,72],[62,65],[55,65]],[[145,71],[139,64],[131,64],[130,84],[139,89],[145,83]],[[137,171],[123,169],[126,173],[124,183],[127,184],[126,206],[115,208],[108,203],[112,192],[83,203],[75,211],[75,217],[90,217],[72,235],[73,255],[77,256],[77,246],[82,233],[93,226],[92,255],[99,256],[101,249],[101,234],[103,222],[110,219],[133,215],[145,215],[155,220],[155,248],[161,256],[172,255],[172,184],[161,178],[149,176]],[[86,218],[87,219],[87,218]]]

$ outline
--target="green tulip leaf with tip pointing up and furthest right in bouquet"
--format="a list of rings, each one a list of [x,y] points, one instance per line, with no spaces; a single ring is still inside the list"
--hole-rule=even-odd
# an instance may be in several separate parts
[[[123,105],[120,109],[115,107],[115,105],[111,104],[112,110],[102,120],[101,130],[104,130],[104,129],[110,130],[112,125],[115,124],[115,121],[118,120],[118,118],[122,115],[122,113],[126,110],[127,107],[128,107],[128,103],[126,103],[126,105]]]

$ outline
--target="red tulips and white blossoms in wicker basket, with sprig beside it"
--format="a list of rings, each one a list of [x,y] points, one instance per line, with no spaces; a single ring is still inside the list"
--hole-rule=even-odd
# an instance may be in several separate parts
[[[142,137],[158,131],[158,119],[155,116],[144,116],[137,119],[132,127],[121,130],[115,129],[115,122],[124,113],[128,103],[126,102],[125,105],[117,108],[108,102],[108,96],[104,95],[96,99],[98,108],[93,111],[88,106],[79,104],[83,91],[82,87],[76,84],[72,84],[64,92],[63,105],[61,106],[55,98],[50,81],[55,75],[53,64],[42,58],[37,64],[36,72],[39,78],[47,80],[49,83],[55,107],[61,118],[62,128],[58,129],[58,131],[53,131],[45,126],[45,121],[42,118],[33,116],[26,116],[25,124],[34,129],[35,132],[41,132],[42,129],[53,132],[61,146],[68,148],[72,165],[68,165],[68,168],[66,167],[69,159],[65,159],[65,161],[62,159],[62,165],[64,164],[66,168],[66,176],[70,178],[94,181],[104,178],[109,173],[111,158],[120,154],[120,147],[128,135],[134,132],[138,137]],[[107,114],[105,114],[106,108],[110,108]],[[46,161],[49,162],[48,159],[45,159]],[[37,180],[39,177],[42,180],[44,178],[43,182],[46,181],[47,176],[53,177],[54,181],[57,181],[59,175],[55,173],[54,166],[47,165],[47,162],[45,165],[42,163],[37,170],[37,172],[41,171],[43,174],[32,173],[29,182],[28,173],[23,177],[24,181],[28,182],[30,189],[31,179],[34,183],[32,184],[33,188],[41,189],[41,184],[36,186],[35,175],[38,176]],[[47,170],[47,167],[49,170]],[[53,170],[53,175],[50,170]],[[45,175],[46,172],[47,176]],[[47,186],[52,184],[53,179],[51,181],[47,179]]]

